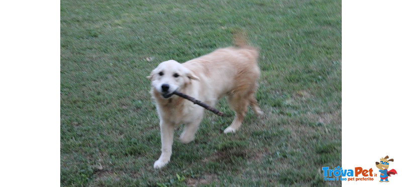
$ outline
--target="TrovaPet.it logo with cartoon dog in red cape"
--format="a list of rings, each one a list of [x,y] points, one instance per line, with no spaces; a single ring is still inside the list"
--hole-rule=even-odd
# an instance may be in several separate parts
[[[388,156],[380,158],[379,162],[375,162],[375,166],[379,169],[379,173],[373,171],[373,168],[355,167],[350,169],[343,169],[337,166],[334,169],[330,167],[323,167],[324,180],[326,181],[374,181],[374,178],[379,177],[380,182],[389,182],[388,177],[392,174],[397,174],[395,169],[388,170],[389,162],[393,159],[388,159]],[[378,180],[377,180],[378,181]]]

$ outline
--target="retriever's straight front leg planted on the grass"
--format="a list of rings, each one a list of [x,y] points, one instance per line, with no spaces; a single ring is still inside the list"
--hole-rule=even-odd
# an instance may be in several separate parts
[[[154,163],[154,168],[161,168],[170,161],[172,155],[174,125],[170,123],[160,122],[160,138],[162,142],[162,153],[158,160]]]

